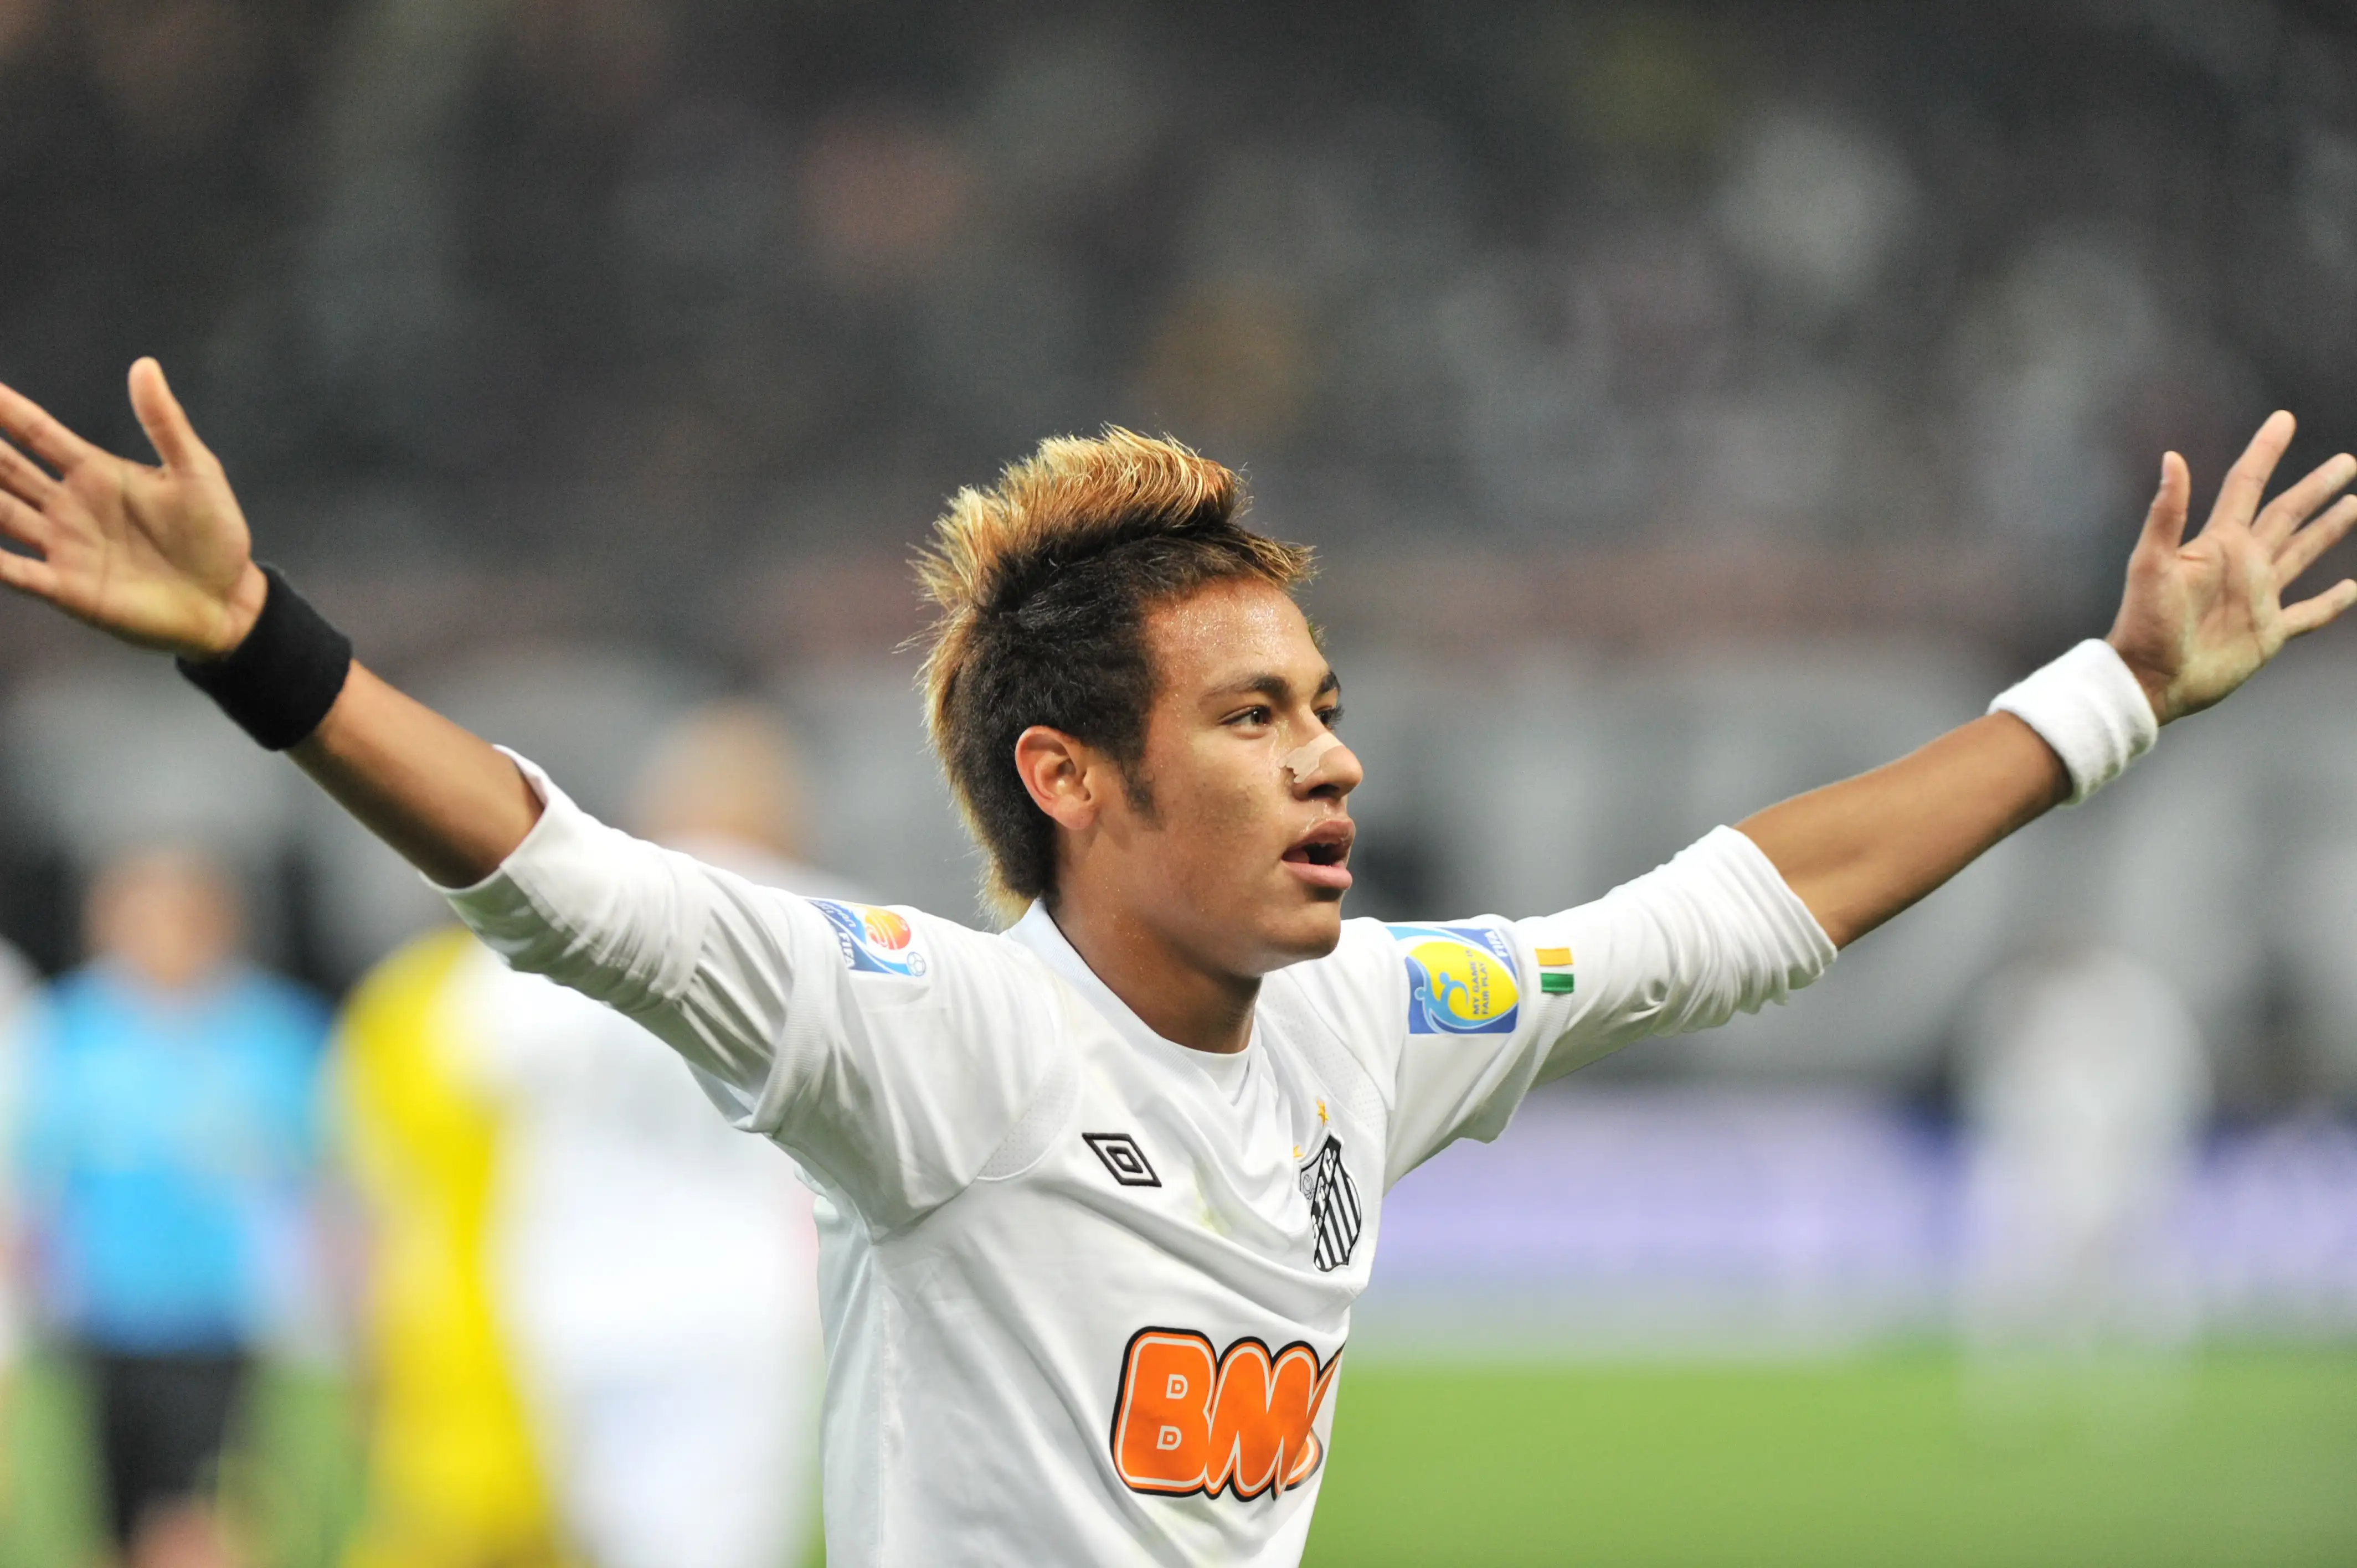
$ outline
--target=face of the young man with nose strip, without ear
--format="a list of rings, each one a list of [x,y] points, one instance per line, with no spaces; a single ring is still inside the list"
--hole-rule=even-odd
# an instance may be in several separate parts
[[[1358,757],[1334,740],[1341,686],[1301,608],[1226,580],[1146,620],[1160,681],[1141,776],[1103,846],[1131,917],[1223,974],[1266,974],[1341,941]]]

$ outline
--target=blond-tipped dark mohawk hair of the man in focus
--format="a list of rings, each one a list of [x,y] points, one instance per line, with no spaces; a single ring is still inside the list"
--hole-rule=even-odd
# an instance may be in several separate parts
[[[1047,724],[1103,747],[1153,811],[1138,771],[1155,698],[1146,613],[1223,578],[1292,592],[1310,575],[1310,552],[1244,528],[1244,507],[1230,469],[1108,424],[1042,441],[933,523],[917,556],[940,611],[919,677],[926,731],[1002,917],[1056,891],[1056,825],[1016,776],[1016,738]]]

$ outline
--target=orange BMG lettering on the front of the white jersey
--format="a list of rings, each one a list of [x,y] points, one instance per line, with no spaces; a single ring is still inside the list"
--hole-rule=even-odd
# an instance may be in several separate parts
[[[1134,1493],[1259,1497],[1310,1478],[1325,1445],[1313,1427],[1341,1351],[1237,1339],[1223,1356],[1183,1327],[1141,1327],[1122,1356],[1113,1469]]]

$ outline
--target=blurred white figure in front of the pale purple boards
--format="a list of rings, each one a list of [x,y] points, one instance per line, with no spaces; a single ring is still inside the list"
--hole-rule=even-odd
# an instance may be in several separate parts
[[[2209,1059],[2166,974],[2074,946],[1989,988],[1966,1056],[1966,1335],[1985,1368],[2168,1351]]]

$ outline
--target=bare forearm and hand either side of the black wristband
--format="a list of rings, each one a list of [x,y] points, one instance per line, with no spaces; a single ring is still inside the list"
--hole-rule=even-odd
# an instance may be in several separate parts
[[[31,552],[0,549],[0,582],[123,641],[226,658],[269,597],[245,514],[153,358],[132,365],[132,408],[156,467],[0,387],[0,431],[16,443],[0,443],[0,535]],[[290,757],[443,887],[488,877],[540,818],[516,764],[358,663]]]

